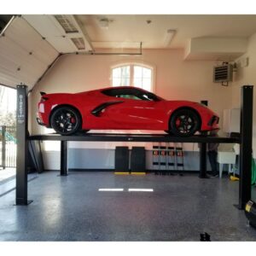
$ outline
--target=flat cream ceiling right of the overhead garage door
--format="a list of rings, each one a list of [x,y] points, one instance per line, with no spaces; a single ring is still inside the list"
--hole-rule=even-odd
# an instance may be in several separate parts
[[[94,48],[184,48],[189,38],[247,38],[256,32],[256,15],[76,15]],[[109,20],[102,28],[99,20]],[[147,22],[147,20],[151,20]],[[168,29],[176,30],[165,45]]]

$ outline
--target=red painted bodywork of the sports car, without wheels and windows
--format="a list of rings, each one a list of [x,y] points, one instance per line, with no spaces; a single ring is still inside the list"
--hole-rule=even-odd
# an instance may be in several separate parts
[[[81,93],[44,94],[38,103],[38,122],[50,127],[49,119],[53,109],[60,105],[70,105],[79,110],[82,117],[83,130],[169,130],[169,120],[178,108],[193,108],[201,117],[201,131],[218,129],[218,115],[209,108],[197,102],[143,101],[127,98],[117,98],[102,93],[104,90],[131,88],[129,86],[111,87],[100,90],[90,90]],[[132,87],[134,88],[134,87]],[[142,90],[138,89],[137,90]],[[144,90],[145,91],[145,90]],[[147,91],[145,91],[147,92]],[[103,103],[113,102],[96,116],[91,113]],[[217,117],[213,123],[212,117]]]

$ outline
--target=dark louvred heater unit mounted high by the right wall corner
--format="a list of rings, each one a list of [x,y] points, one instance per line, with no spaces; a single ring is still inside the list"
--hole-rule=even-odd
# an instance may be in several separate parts
[[[233,66],[224,64],[222,66],[213,67],[213,82],[228,83],[233,79]],[[227,85],[227,84],[226,84]]]

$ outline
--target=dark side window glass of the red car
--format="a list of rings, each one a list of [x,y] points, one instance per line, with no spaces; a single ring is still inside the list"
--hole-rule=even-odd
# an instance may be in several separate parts
[[[113,88],[102,90],[102,93],[107,96],[118,98],[125,98],[131,100],[153,101],[159,102],[162,100],[159,96],[154,95],[152,92],[146,90],[139,90],[137,88]]]

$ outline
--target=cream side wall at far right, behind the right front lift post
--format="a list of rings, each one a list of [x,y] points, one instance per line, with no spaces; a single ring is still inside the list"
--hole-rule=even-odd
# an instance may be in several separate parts
[[[239,59],[249,58],[247,67],[238,67],[235,81],[231,84],[232,88],[232,108],[240,108],[241,106],[241,86],[246,84],[256,85],[256,33],[248,40],[247,53]],[[253,94],[253,157],[256,158],[256,96],[254,86]]]

